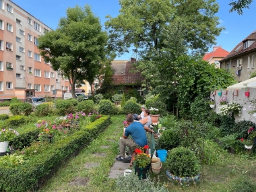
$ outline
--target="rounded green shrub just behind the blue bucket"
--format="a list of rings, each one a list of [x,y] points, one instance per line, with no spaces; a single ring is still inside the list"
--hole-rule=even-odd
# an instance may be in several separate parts
[[[167,129],[162,132],[162,136],[158,139],[158,148],[172,150],[177,148],[181,143],[181,137],[174,129]]]

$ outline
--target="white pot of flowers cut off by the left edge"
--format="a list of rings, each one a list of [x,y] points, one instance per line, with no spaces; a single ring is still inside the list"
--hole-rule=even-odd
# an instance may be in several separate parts
[[[19,133],[13,129],[1,129],[0,131],[0,153],[6,152],[9,141],[12,141]]]

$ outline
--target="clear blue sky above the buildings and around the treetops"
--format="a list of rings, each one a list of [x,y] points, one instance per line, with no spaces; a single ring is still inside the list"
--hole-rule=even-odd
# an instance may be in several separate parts
[[[68,7],[79,5],[84,7],[88,4],[92,7],[93,13],[100,18],[102,26],[106,22],[106,15],[115,18],[119,14],[119,0],[11,0],[33,15],[35,18],[55,30],[59,19],[65,17]],[[230,0],[217,0],[220,9],[216,16],[219,17],[220,26],[224,27],[220,36],[216,37],[216,46],[222,46],[226,51],[232,51],[236,44],[244,40],[249,34],[256,30],[256,1],[250,5],[249,9],[243,9],[243,15],[236,12],[229,13]],[[208,52],[213,49],[209,47]],[[129,60],[135,57],[133,53],[126,53],[117,60]]]

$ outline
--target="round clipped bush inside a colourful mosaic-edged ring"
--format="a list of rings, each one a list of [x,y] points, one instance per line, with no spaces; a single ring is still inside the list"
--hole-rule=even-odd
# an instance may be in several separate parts
[[[183,147],[170,150],[166,166],[179,177],[193,177],[199,173],[199,160],[191,150]]]

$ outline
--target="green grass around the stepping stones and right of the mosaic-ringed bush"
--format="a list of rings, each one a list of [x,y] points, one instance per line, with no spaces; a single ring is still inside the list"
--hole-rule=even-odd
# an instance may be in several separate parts
[[[115,179],[108,179],[108,172],[119,151],[118,145],[119,137],[123,133],[123,119],[125,116],[111,117],[111,125],[100,133],[98,138],[90,143],[90,146],[84,148],[78,156],[63,164],[53,178],[46,181],[40,191],[115,191]],[[109,148],[102,148],[102,146],[109,146]],[[106,156],[96,157],[95,153],[104,153]],[[186,186],[168,181],[164,164],[158,177],[152,174],[152,178],[160,179],[160,182],[169,191],[177,192],[228,192],[237,188],[241,183],[246,183],[245,179],[249,183],[253,183],[253,179],[256,177],[255,158],[249,158],[246,154],[228,154],[220,148],[214,148],[212,153],[218,154],[218,158],[211,165],[201,167],[201,179],[197,185]],[[88,169],[85,166],[88,163],[96,163],[99,166]],[[86,178],[88,184],[85,187],[70,185],[69,183],[75,178]]]

